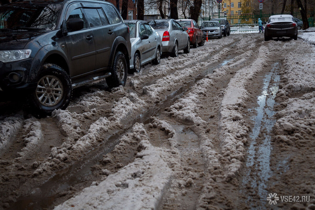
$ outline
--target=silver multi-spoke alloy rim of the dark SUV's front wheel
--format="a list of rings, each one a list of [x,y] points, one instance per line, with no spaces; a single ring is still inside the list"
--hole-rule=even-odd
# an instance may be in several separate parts
[[[52,107],[60,102],[63,87],[60,80],[52,75],[44,76],[37,82],[36,97],[46,107]]]

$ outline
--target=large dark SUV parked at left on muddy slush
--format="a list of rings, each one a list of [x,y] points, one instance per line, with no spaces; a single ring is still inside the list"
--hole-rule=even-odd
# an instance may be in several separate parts
[[[125,85],[128,26],[108,2],[20,1],[0,7],[0,87],[30,93],[37,114],[65,109],[72,89]]]

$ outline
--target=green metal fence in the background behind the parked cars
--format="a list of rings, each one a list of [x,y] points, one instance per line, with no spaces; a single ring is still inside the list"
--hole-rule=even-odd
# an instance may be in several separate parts
[[[289,14],[289,13],[285,13]],[[314,14],[314,12],[310,12],[309,14]],[[261,20],[268,21],[269,17],[275,14],[261,14]],[[260,18],[260,14],[220,14],[220,18],[225,17],[229,20],[231,31],[239,31],[239,32],[252,32],[258,31],[258,18]],[[302,20],[301,13],[294,13],[293,17]],[[211,20],[213,18],[218,18],[218,16],[210,16],[203,17],[198,19],[198,24],[201,25],[203,21]],[[310,27],[315,27],[315,18],[309,17],[308,23]]]

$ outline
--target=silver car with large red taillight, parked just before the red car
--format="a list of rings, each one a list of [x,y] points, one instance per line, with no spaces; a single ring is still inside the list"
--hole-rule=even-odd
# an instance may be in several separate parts
[[[178,56],[179,50],[190,52],[190,38],[186,30],[174,19],[147,20],[151,27],[162,38],[162,52],[170,52],[173,57]]]

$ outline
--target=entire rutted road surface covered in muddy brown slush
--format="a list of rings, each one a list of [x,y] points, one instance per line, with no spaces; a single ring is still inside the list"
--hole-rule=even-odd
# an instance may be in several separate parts
[[[313,42],[210,39],[41,119],[3,99],[0,209],[315,209]]]

